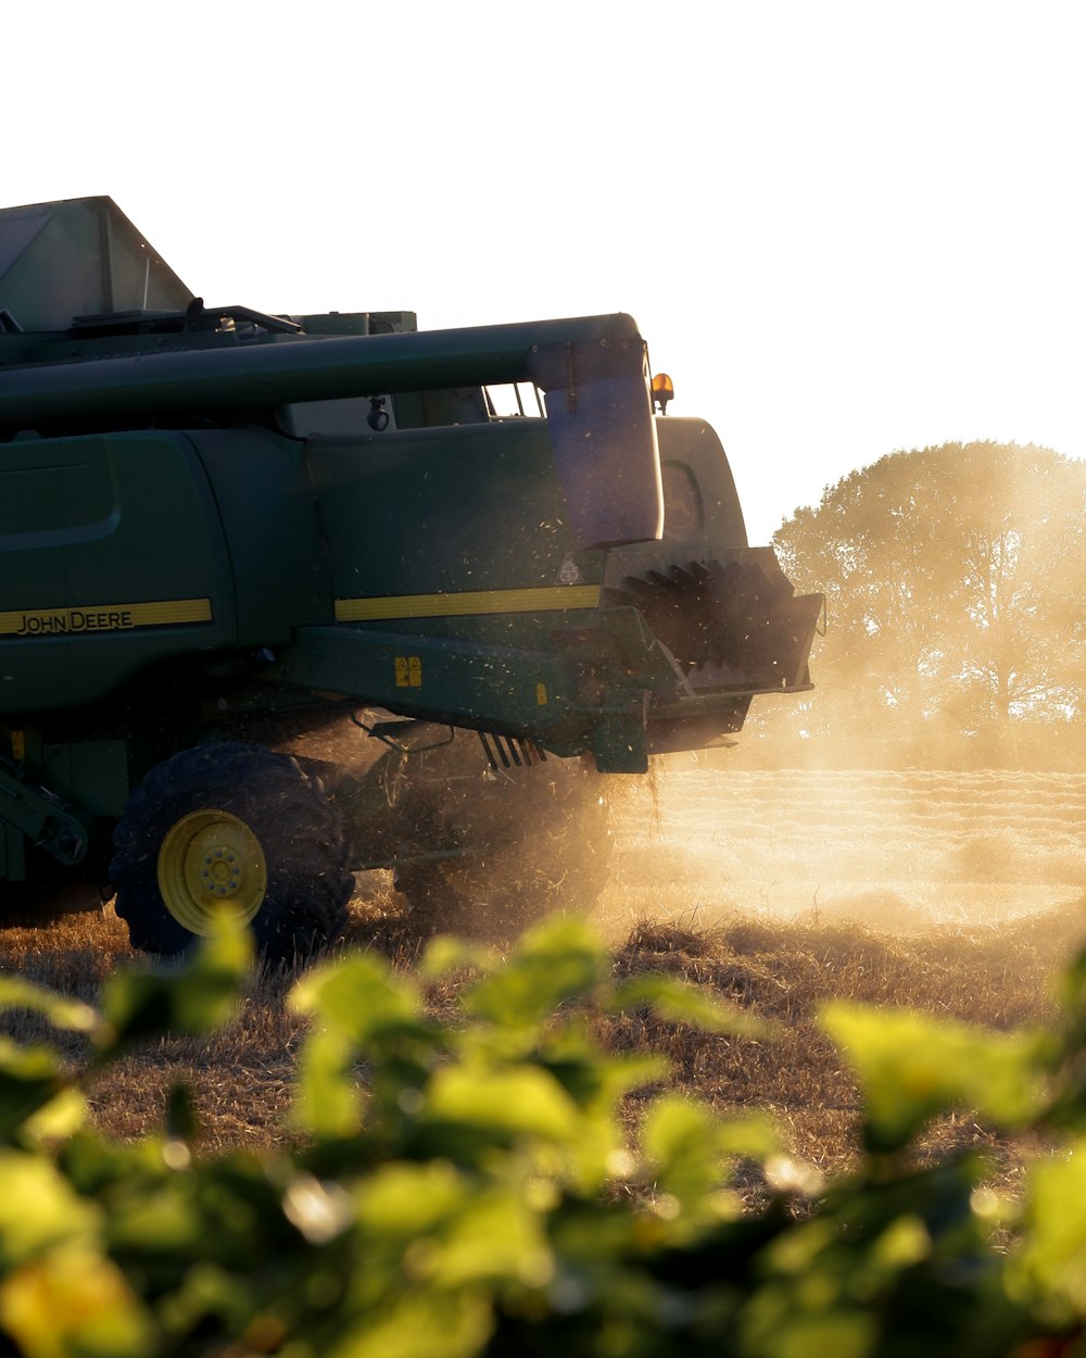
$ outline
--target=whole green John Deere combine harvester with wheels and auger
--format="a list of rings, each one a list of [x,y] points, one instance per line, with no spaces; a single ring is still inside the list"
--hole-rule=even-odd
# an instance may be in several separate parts
[[[272,957],[365,868],[428,929],[589,907],[601,774],[810,687],[821,598],[668,398],[624,315],[206,307],[110,198],[0,210],[0,895]]]

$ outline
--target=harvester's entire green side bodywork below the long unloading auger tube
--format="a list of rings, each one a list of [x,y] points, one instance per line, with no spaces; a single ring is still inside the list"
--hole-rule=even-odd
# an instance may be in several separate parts
[[[599,591],[745,550],[709,426],[671,420],[661,439],[667,482],[683,496],[676,530],[611,551],[578,550],[542,420],[338,440],[248,428],[12,444],[0,473],[8,720],[99,702],[163,665],[206,660],[213,675],[214,657],[262,650],[266,680],[592,748],[596,717],[675,689],[652,645],[626,672]],[[597,589],[592,607],[584,587]],[[517,591],[548,598],[504,610]],[[495,600],[441,611],[441,598],[464,593]],[[396,611],[414,596],[438,603],[424,617]],[[208,618],[107,625],[117,610],[171,600],[206,600]],[[337,600],[388,607],[337,623]],[[39,617],[50,614],[61,621]],[[62,631],[29,633],[65,615]],[[421,683],[396,682],[405,655],[428,657]]]

